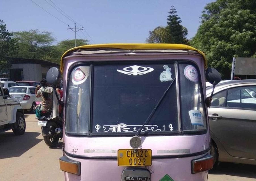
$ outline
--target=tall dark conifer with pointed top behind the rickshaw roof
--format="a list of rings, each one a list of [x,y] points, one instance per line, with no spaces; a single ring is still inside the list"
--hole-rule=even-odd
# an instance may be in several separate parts
[[[174,6],[171,7],[169,16],[167,18],[168,29],[168,43],[186,44],[186,36],[188,30],[181,25],[181,18],[177,15],[177,11]]]

